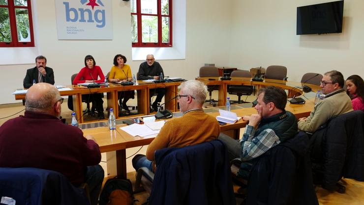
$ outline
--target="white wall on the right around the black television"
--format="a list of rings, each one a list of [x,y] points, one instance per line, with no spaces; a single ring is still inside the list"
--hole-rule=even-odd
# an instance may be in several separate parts
[[[345,0],[343,32],[296,35],[297,7],[334,0],[233,0],[230,65],[284,65],[289,80],[336,69],[364,77],[364,1]]]

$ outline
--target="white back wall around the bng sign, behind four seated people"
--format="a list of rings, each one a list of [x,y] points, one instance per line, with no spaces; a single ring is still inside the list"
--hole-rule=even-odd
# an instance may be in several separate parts
[[[205,62],[227,66],[231,28],[231,0],[198,0],[186,2],[186,58],[182,60],[158,60],[169,76],[194,79]],[[86,55],[92,55],[106,74],[110,71],[116,54],[128,59],[132,72],[136,73],[142,61],[131,60],[130,3],[112,0],[113,40],[58,40],[54,0],[32,0],[34,32],[39,54],[46,56],[47,66],[55,72],[56,85],[69,85],[70,76],[84,66]],[[10,53],[11,54],[10,54]],[[10,94],[22,88],[26,70],[35,66],[33,57],[22,57],[20,49],[0,49],[0,104],[20,102]],[[13,55],[14,54],[14,55]],[[14,65],[4,65],[5,59],[15,59]],[[27,60],[19,60],[27,58]],[[2,64],[2,65],[1,65]]]

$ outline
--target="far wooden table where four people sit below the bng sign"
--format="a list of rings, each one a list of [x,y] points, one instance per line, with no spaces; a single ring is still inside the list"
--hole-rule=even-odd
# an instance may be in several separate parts
[[[139,116],[145,116],[150,114],[150,98],[149,92],[150,89],[153,88],[166,88],[166,93],[164,95],[165,99],[165,108],[176,112],[177,108],[177,99],[170,100],[174,98],[178,93],[178,86],[181,85],[181,82],[165,82],[165,83],[146,83],[143,81],[137,81],[135,85],[131,86],[121,86],[120,84],[109,83],[109,87],[100,87],[100,88],[86,88],[84,86],[66,86],[66,88],[70,88],[70,90],[60,91],[61,96],[73,95],[73,109],[76,113],[76,116],[79,117],[79,123],[83,123],[83,105],[82,105],[82,95],[83,94],[92,94],[92,93],[107,93],[107,107],[114,108],[115,116],[119,116],[119,98],[118,91],[126,91],[126,90],[137,90],[137,99],[138,99],[138,114]],[[25,94],[16,94],[16,100],[25,99]],[[169,101],[170,100],[170,101]]]

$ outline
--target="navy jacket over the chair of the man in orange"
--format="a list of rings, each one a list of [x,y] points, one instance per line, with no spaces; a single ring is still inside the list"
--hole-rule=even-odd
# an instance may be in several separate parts
[[[159,149],[155,162],[150,205],[236,204],[227,150],[221,141]]]

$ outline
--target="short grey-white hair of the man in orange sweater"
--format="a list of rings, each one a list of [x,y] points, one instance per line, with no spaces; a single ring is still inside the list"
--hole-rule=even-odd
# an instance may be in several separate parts
[[[204,104],[207,95],[207,87],[200,81],[186,81],[181,84],[185,95],[191,95],[200,104]]]

